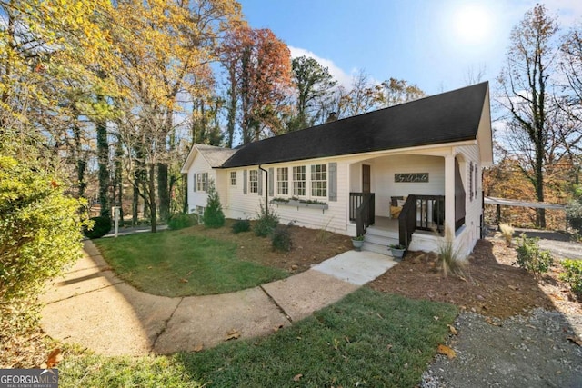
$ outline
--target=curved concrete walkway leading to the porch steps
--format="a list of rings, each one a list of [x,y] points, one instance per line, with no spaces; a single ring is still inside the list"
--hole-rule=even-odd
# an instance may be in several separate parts
[[[86,241],[84,258],[47,287],[42,326],[57,340],[106,355],[191,352],[229,336],[274,333],[395,264],[382,254],[349,251],[304,273],[236,293],[168,298],[125,284]]]

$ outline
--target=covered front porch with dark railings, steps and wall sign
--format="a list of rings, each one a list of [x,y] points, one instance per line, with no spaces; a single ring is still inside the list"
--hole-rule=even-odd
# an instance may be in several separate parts
[[[356,235],[365,235],[368,245],[379,245],[368,246],[376,252],[389,244],[436,249],[446,234],[445,225],[455,225],[453,232],[465,224],[463,162],[458,159],[398,154],[352,164],[349,221],[356,226]],[[414,239],[422,243],[413,244]]]

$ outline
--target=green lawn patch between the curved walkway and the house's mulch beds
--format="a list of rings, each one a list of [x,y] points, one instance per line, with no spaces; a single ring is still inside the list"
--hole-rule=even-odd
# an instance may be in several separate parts
[[[239,260],[233,242],[189,229],[94,242],[116,274],[156,295],[231,293],[288,276],[281,269]]]

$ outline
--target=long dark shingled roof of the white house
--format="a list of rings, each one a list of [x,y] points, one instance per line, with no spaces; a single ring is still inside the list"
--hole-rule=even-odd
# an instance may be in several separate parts
[[[223,167],[474,140],[488,83],[246,144]]]

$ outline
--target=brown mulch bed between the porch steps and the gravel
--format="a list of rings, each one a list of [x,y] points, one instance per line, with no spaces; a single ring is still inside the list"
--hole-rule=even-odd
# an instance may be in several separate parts
[[[515,249],[497,239],[481,240],[463,277],[444,276],[436,254],[409,252],[401,264],[369,285],[377,291],[453,303],[461,310],[497,318],[536,307],[554,310],[558,305],[582,313],[580,303],[571,299],[567,285],[557,278],[562,272],[559,262],[539,282],[515,262]]]

